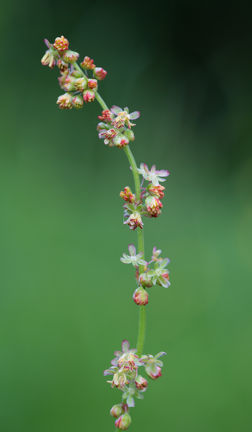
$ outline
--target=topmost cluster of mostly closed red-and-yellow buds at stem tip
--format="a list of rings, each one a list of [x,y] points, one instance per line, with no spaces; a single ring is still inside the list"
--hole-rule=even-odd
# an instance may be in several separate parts
[[[48,65],[51,69],[57,64],[61,76],[58,78],[61,89],[65,90],[64,95],[58,97],[57,104],[61,109],[80,109],[83,103],[92,102],[97,90],[97,80],[101,81],[107,75],[102,67],[95,67],[94,60],[85,57],[81,63],[81,70],[76,61],[79,54],[68,48],[69,42],[64,36],[56,38],[54,44],[45,39],[48,48],[42,57],[41,63]],[[87,70],[93,71],[93,77],[89,78]]]

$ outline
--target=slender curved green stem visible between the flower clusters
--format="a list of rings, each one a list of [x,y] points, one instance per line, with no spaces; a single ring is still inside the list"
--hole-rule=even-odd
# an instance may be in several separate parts
[[[77,64],[74,64],[74,66],[78,66]],[[76,67],[76,69],[80,69],[80,67]],[[84,76],[84,74],[83,74]],[[95,98],[97,99],[97,102],[99,102],[100,106],[105,110],[109,109],[106,105],[106,103],[103,101],[103,99],[100,97],[98,92],[95,92]],[[136,200],[139,202],[140,200],[140,194],[141,194],[141,185],[140,185],[140,179],[139,179],[139,173],[137,172],[137,166],[134,156],[132,155],[132,152],[129,148],[129,145],[127,145],[124,148],[124,151],[126,153],[127,158],[129,159],[130,166],[132,168],[132,173],[134,177],[135,182],[135,188],[136,188]],[[143,229],[138,227],[137,232],[137,238],[138,238],[138,252],[143,251],[142,260],[144,260],[144,237],[143,237]],[[139,265],[139,274],[144,272],[144,266]],[[140,357],[142,354],[142,349],[144,345],[145,340],[145,329],[146,329],[146,306],[139,306],[139,328],[138,328],[138,338],[137,338],[137,355]]]

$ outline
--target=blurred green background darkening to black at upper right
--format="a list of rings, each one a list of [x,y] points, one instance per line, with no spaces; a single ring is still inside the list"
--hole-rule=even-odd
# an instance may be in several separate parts
[[[164,357],[130,430],[251,430],[251,36],[246,2],[2,5],[1,401],[3,432],[111,431],[121,394],[103,377],[136,345],[134,268],[120,262],[122,150],[96,132],[97,102],[56,105],[43,38],[108,71],[107,105],[139,110],[137,164],[168,169],[145,219],[171,287],[149,289],[145,353]],[[149,380],[151,381],[151,380]]]

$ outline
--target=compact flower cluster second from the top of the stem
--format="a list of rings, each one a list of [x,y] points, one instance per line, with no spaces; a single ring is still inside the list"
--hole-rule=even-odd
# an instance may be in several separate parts
[[[129,141],[134,141],[135,136],[131,130],[132,126],[136,126],[130,122],[139,118],[140,112],[134,111],[129,114],[129,108],[120,108],[116,105],[110,110],[103,110],[102,115],[98,116],[101,120],[98,123],[97,130],[99,131],[99,138],[104,140],[104,144],[108,144],[109,147],[118,147],[123,149]]]

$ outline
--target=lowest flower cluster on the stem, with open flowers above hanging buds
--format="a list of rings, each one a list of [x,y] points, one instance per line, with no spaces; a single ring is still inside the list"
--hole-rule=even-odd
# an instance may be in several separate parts
[[[123,402],[114,405],[110,410],[110,415],[116,418],[115,426],[121,430],[128,429],[131,418],[129,408],[135,406],[134,397],[143,399],[143,393],[147,390],[148,381],[138,374],[138,368],[145,363],[145,372],[149,378],[157,379],[161,374],[163,363],[158,357],[166,353],[158,353],[155,357],[152,355],[143,355],[141,359],[136,355],[136,349],[129,349],[128,340],[123,340],[122,351],[115,351],[115,359],[111,361],[112,366],[103,372],[103,375],[113,375],[111,388],[118,388],[123,392]]]

